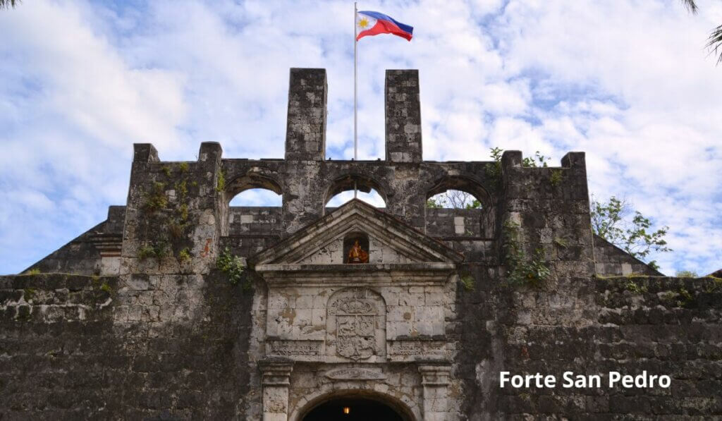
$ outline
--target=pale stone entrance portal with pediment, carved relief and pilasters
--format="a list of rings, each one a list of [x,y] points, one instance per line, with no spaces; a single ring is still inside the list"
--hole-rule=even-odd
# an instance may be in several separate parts
[[[349,235],[367,238],[368,263],[344,263]],[[326,396],[361,392],[409,420],[444,420],[444,320],[462,259],[356,200],[254,256],[267,286],[253,313],[264,420],[301,421]]]

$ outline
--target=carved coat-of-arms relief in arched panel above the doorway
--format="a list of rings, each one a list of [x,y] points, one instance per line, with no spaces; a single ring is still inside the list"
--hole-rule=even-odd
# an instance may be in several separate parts
[[[354,361],[382,356],[386,348],[386,305],[366,288],[336,292],[329,300],[326,343],[331,355]]]

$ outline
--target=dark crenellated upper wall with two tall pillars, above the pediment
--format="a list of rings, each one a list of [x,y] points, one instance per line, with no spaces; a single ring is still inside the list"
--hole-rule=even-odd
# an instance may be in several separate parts
[[[122,241],[105,246],[121,253],[100,253],[97,259],[105,263],[92,266],[105,268],[103,273],[203,273],[222,248],[248,256],[323,217],[331,197],[358,188],[377,191],[384,212],[469,251],[469,259],[502,261],[501,227],[513,220],[530,251],[542,246],[557,256],[562,252],[554,248],[554,238],[573,238],[571,247],[578,251],[557,259],[581,259],[585,263],[575,267],[593,272],[582,152],[568,153],[558,168],[525,168],[518,151],[504,152],[501,162],[425,161],[418,71],[388,70],[386,159],[326,160],[327,90],[325,69],[290,70],[284,159],[223,157],[220,144],[204,142],[197,160],[168,162],[152,144],[135,144]],[[272,222],[260,222],[273,224],[267,232],[258,232],[258,225],[253,233],[239,226],[261,214],[244,217],[243,209],[230,209],[230,200],[251,188],[282,197]],[[481,209],[427,209],[430,197],[448,190],[471,194]],[[154,264],[149,255],[162,255],[166,263]]]

